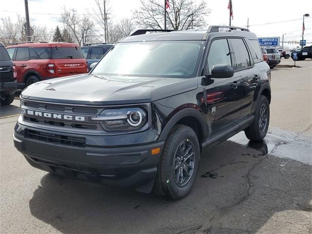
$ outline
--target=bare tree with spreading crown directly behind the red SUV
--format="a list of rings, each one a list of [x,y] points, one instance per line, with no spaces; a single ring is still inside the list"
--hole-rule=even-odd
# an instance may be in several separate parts
[[[82,18],[79,17],[74,8],[66,10],[64,7],[60,22],[64,23],[74,34],[79,46],[85,44],[88,41],[88,37],[94,31],[94,23],[90,20],[89,16],[84,15]]]

